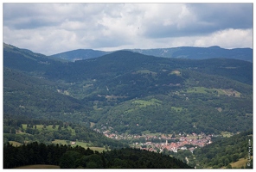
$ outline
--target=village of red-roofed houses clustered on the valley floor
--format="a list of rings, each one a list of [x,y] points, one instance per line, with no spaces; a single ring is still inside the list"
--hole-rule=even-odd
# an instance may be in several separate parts
[[[99,131],[98,131],[99,132]],[[141,134],[141,135],[131,135],[131,134],[118,134],[112,133],[109,130],[103,132],[107,138],[113,139],[126,139],[130,140],[130,146],[146,151],[173,151],[178,150],[189,150],[193,151],[197,147],[203,147],[207,144],[211,144],[211,138],[213,135],[201,134]]]

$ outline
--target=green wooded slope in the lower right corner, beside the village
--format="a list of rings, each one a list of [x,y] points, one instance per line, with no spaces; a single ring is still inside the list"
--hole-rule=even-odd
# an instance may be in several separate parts
[[[253,156],[253,130],[242,132],[231,138],[222,138],[195,150],[195,157],[201,162],[202,168],[218,169],[225,166],[230,168],[229,163],[234,163],[240,158],[248,159],[249,156]],[[243,167],[253,169],[253,161],[247,162],[250,166],[244,164]]]

